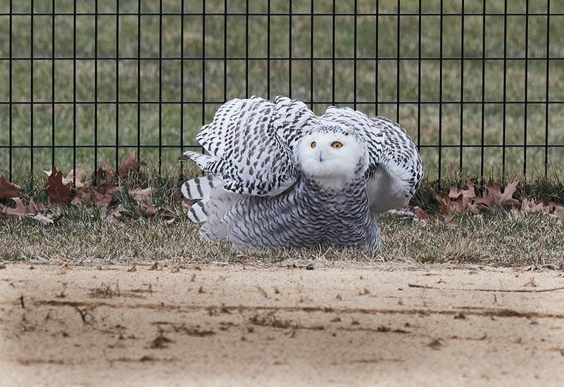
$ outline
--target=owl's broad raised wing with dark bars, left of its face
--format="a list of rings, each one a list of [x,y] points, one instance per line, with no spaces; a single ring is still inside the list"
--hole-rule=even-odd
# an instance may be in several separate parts
[[[196,136],[209,156],[186,152],[182,158],[222,180],[227,191],[278,194],[296,181],[292,149],[315,119],[310,113],[303,103],[287,98],[276,103],[258,97],[233,99]]]

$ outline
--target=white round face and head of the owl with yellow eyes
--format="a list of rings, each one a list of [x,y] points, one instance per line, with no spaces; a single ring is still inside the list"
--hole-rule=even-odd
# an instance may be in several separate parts
[[[303,175],[322,186],[340,189],[364,175],[368,149],[350,129],[320,126],[300,139],[297,159]]]

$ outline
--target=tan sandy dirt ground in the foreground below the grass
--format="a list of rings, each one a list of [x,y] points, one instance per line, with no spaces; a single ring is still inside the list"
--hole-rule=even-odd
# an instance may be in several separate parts
[[[2,386],[563,386],[562,272],[0,269]]]

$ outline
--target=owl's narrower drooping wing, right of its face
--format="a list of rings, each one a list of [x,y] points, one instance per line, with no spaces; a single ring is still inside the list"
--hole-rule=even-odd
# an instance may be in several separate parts
[[[372,209],[381,212],[405,207],[423,177],[421,157],[406,130],[387,118],[368,118],[351,108],[331,106],[322,118],[356,129],[366,141]]]

